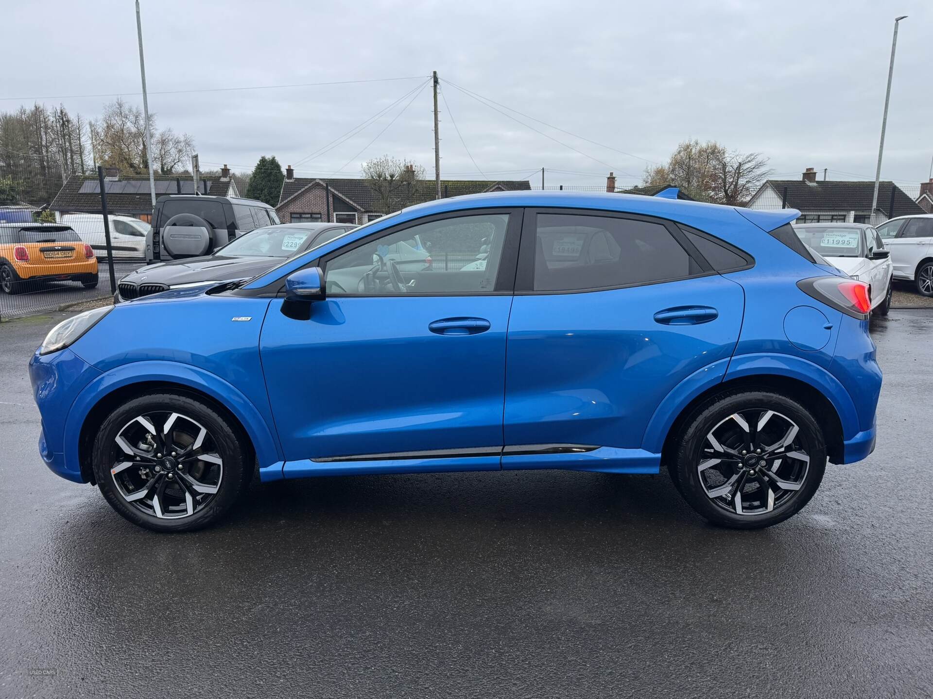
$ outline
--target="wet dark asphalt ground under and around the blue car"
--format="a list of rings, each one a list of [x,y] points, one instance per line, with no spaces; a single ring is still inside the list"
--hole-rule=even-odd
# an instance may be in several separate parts
[[[254,485],[157,535],[50,473],[0,325],[0,697],[933,695],[933,311],[872,322],[869,459],[763,531],[666,475]]]

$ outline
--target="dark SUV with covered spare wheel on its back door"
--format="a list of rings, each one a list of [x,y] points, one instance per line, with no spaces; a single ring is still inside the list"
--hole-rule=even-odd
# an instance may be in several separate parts
[[[280,223],[275,210],[256,199],[160,197],[146,235],[146,262],[211,254],[254,228]]]

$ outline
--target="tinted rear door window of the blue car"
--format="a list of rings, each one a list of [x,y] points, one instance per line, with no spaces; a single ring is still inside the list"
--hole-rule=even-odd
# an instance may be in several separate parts
[[[586,291],[702,273],[661,224],[609,216],[537,214],[535,291]]]

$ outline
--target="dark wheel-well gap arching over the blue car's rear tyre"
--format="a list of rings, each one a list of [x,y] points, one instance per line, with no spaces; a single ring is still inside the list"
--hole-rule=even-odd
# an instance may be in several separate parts
[[[771,391],[791,398],[807,408],[819,423],[826,439],[829,460],[842,463],[844,456],[842,419],[836,406],[812,384],[800,378],[778,374],[751,374],[730,378],[699,393],[676,415],[661,448],[661,462],[668,462],[676,447],[677,437],[691,413],[711,398],[731,391]]]

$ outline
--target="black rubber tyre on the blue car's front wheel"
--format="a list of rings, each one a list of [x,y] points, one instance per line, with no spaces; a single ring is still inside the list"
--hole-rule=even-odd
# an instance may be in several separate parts
[[[127,495],[120,492],[120,488],[117,486],[118,475],[111,472],[111,469],[115,465],[119,465],[120,461],[130,459],[123,454],[125,449],[121,450],[118,445],[118,436],[124,436],[124,431],[129,426],[134,425],[135,418],[139,416],[165,413],[179,414],[183,419],[189,420],[192,424],[206,430],[205,443],[210,444],[211,448],[214,449],[213,453],[222,460],[222,472],[217,479],[216,493],[211,494],[209,497],[196,495],[196,497],[202,498],[203,504],[195,502],[194,507],[197,509],[194,509],[192,514],[181,514],[180,516],[164,516],[163,514],[163,516],[157,516],[154,513],[160,513],[161,508],[152,505],[155,497],[149,500],[144,498],[136,502],[126,500]],[[151,424],[155,426],[156,421],[151,420]],[[160,430],[158,427],[156,429],[157,431]],[[145,428],[144,432],[147,432]],[[127,440],[126,437],[124,439]],[[174,441],[174,437],[172,441]],[[153,447],[152,452],[155,452],[155,447]],[[230,507],[240,499],[252,478],[255,469],[255,459],[252,454],[252,446],[239,427],[231,424],[230,419],[220,415],[213,406],[187,395],[160,392],[134,398],[114,410],[104,420],[104,424],[98,431],[91,459],[98,487],[100,487],[110,506],[119,514],[139,527],[152,529],[153,531],[179,532],[192,531],[212,525],[230,510]],[[166,453],[164,456],[167,457],[168,454]],[[191,459],[197,461],[197,457]],[[144,476],[144,469],[159,470],[155,464],[163,463],[166,460],[169,459],[149,459],[148,464],[152,465],[150,466],[144,462],[139,469],[135,468],[136,463],[134,462],[132,467],[125,468],[124,471],[127,474],[139,471],[140,482],[145,482],[146,479],[151,477],[152,480],[148,481],[148,484],[151,484],[157,480],[155,476],[158,474],[146,473]],[[178,460],[182,461],[182,459]],[[192,463],[188,461],[188,473],[195,473],[192,468],[197,468],[198,465],[204,466],[203,463],[196,463],[192,466]],[[188,487],[189,479],[184,483],[182,482],[183,473],[181,472],[183,466],[175,468],[177,470],[174,470],[174,474],[178,477],[173,481],[167,481],[167,478],[171,476],[168,475],[169,469],[165,468],[162,470],[161,480],[158,483],[151,487],[148,484],[146,485],[149,490],[157,491],[156,495],[158,495],[158,492],[161,492],[159,491],[160,484],[165,483],[162,500],[166,502],[170,501],[171,488],[174,487],[176,492],[191,489]],[[135,473],[133,475],[135,476]],[[128,476],[124,474],[120,477]],[[138,490],[136,492],[138,494]],[[190,508],[192,505],[189,504],[188,507]],[[150,509],[153,512],[149,512]]]

